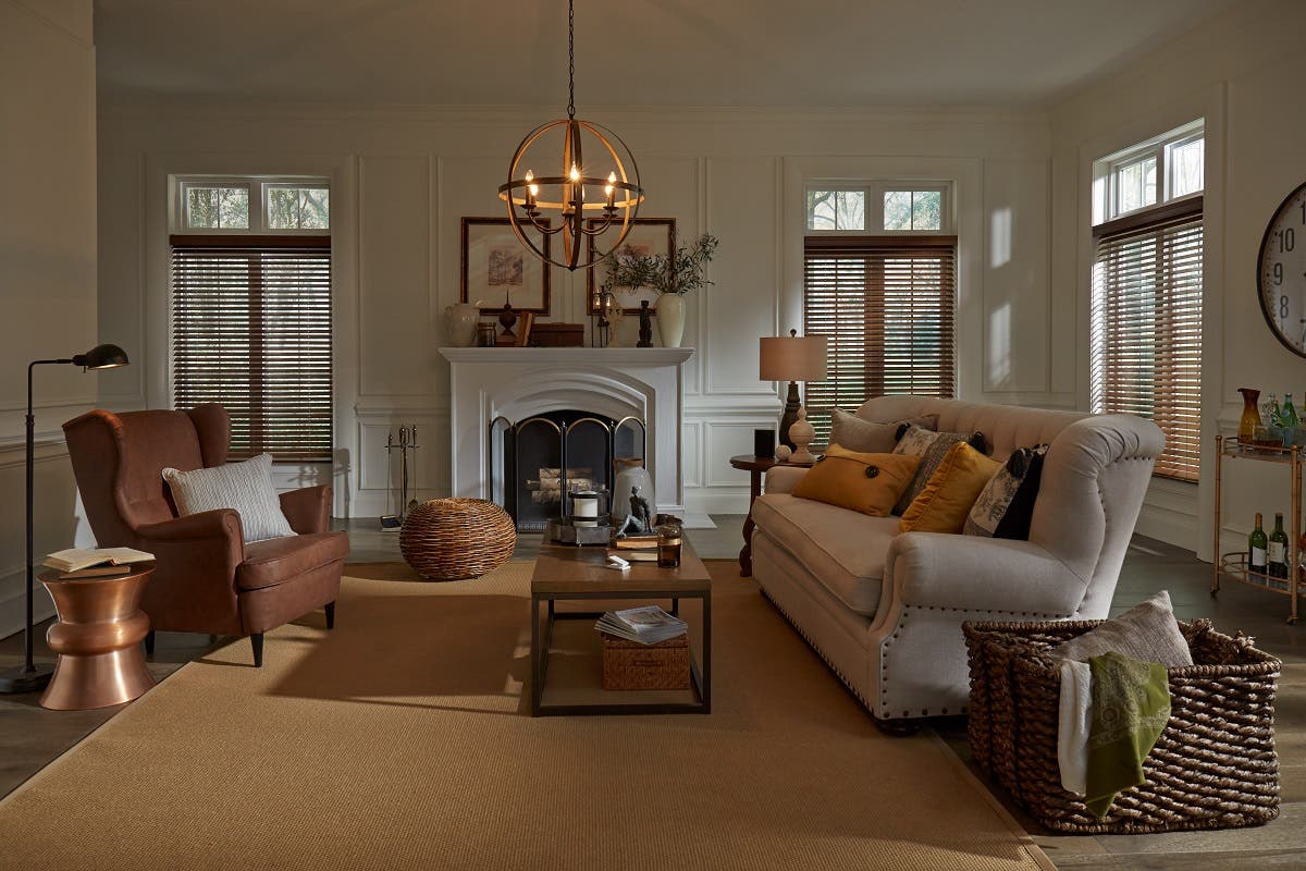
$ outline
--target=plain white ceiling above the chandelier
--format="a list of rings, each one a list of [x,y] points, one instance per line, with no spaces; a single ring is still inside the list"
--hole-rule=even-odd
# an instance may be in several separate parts
[[[590,106],[1036,106],[1233,0],[577,0]],[[95,0],[108,97],[565,106],[564,0]]]

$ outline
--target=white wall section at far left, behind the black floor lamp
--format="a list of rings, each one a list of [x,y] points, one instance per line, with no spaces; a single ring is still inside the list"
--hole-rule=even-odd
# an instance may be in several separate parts
[[[38,85],[39,84],[39,85]],[[95,48],[90,0],[0,0],[0,637],[22,626],[26,367],[95,343]],[[35,371],[35,550],[73,543],[60,423],[97,376]],[[38,616],[54,611],[37,585]]]

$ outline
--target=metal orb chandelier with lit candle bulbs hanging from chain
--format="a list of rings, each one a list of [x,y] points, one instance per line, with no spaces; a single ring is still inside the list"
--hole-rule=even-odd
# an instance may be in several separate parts
[[[541,124],[521,140],[508,165],[508,182],[499,185],[499,198],[508,205],[513,234],[532,253],[555,266],[593,269],[616,251],[635,226],[644,188],[635,155],[622,137],[602,124],[576,118],[573,0],[567,1],[567,118]],[[521,172],[530,166],[533,148],[534,153],[549,150],[550,144],[556,149],[559,138],[558,175],[535,175],[530,168]],[[586,151],[590,163],[585,162]],[[610,230],[615,234],[609,234]],[[541,239],[560,235],[563,259],[546,253],[532,239],[533,232],[541,234]],[[613,236],[610,243],[609,236]]]

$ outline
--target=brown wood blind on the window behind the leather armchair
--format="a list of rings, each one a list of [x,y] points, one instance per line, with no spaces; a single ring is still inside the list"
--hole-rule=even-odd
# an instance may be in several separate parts
[[[232,458],[330,460],[330,239],[171,242],[175,407],[225,406]]]

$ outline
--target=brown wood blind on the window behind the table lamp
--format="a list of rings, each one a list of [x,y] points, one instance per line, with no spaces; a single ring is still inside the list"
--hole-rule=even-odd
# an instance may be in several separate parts
[[[816,443],[831,410],[876,396],[956,390],[956,236],[807,236],[803,326],[829,341],[828,377],[807,385]]]

